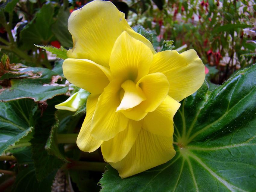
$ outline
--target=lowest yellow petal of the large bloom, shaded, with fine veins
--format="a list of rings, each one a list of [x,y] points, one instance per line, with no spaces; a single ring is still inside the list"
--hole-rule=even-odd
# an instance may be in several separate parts
[[[121,178],[161,165],[175,156],[173,137],[152,134],[141,129],[130,152],[119,162],[109,162]]]

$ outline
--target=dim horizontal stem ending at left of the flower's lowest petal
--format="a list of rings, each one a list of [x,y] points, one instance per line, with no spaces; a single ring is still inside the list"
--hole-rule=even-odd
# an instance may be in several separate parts
[[[104,172],[105,166],[108,165],[105,162],[86,162],[86,161],[73,161],[65,164],[62,169],[76,169],[86,171],[98,171]]]

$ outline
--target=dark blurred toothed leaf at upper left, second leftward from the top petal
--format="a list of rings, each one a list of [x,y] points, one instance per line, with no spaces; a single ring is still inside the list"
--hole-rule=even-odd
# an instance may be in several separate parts
[[[44,4],[35,19],[20,32],[20,41],[23,46],[33,49],[34,44],[48,43],[53,38],[51,25],[53,20],[54,8],[51,3]]]

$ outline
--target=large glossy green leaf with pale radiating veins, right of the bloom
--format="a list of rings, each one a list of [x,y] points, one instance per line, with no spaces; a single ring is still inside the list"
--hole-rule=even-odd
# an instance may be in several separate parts
[[[121,179],[108,166],[102,191],[255,191],[256,65],[213,92],[204,84],[176,113],[176,156]]]

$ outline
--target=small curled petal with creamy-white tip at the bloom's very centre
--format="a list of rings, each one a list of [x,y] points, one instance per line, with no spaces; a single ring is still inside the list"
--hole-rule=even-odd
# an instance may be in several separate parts
[[[124,90],[124,96],[120,105],[117,107],[117,111],[133,108],[146,100],[141,88],[136,87],[136,84],[132,80],[126,80],[121,87]]]

